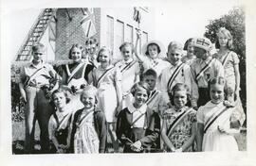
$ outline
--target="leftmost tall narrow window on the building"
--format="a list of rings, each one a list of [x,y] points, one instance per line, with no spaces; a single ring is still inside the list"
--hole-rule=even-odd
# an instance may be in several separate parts
[[[114,49],[114,19],[110,16],[107,16],[106,46]]]

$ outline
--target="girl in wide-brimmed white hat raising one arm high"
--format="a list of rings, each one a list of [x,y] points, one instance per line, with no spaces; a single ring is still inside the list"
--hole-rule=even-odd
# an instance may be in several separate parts
[[[160,75],[163,69],[169,66],[169,62],[161,59],[163,58],[164,46],[157,41],[147,42],[142,47],[143,56],[139,54],[138,51],[138,41],[140,40],[140,30],[137,30],[137,41],[136,41],[136,52],[135,55],[137,59],[142,63],[143,72],[148,69],[154,69],[157,74],[157,83],[158,86],[160,81]]]

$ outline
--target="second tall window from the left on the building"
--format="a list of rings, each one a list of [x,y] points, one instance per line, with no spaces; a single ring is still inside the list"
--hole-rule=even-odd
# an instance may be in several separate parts
[[[115,48],[115,54],[113,58],[120,58],[119,46],[122,42],[124,42],[124,24],[119,20],[117,21],[115,33],[116,33],[116,38],[115,38],[116,48]]]

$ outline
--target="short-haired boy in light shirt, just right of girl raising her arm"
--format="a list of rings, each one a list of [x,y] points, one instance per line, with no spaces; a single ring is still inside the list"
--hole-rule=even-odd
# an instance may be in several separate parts
[[[192,95],[192,108],[197,107],[198,90],[194,79],[192,78],[191,68],[188,64],[181,61],[183,47],[179,42],[170,42],[168,45],[167,58],[170,62],[169,67],[162,71],[160,90],[165,93],[168,101],[167,91],[173,89],[176,83],[184,83],[189,86]]]

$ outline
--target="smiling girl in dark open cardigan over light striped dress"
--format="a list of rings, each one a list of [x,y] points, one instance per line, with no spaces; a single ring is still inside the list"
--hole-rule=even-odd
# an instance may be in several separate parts
[[[97,89],[86,86],[81,93],[84,108],[73,116],[71,132],[71,152],[76,154],[104,153],[107,126],[104,113],[96,108]]]

